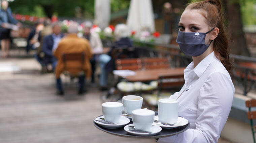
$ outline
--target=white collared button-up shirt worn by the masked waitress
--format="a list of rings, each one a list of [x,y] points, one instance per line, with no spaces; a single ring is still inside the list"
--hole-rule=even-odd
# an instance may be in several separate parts
[[[184,70],[184,78],[182,89],[170,98],[178,98],[179,116],[190,122],[190,128],[158,142],[217,143],[235,91],[229,73],[212,52],[195,68],[191,62]]]

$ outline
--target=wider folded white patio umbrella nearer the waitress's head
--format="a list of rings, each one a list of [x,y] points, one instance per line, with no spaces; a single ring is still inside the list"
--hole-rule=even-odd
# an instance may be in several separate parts
[[[137,34],[141,31],[155,31],[155,21],[151,0],[131,0],[127,25]]]

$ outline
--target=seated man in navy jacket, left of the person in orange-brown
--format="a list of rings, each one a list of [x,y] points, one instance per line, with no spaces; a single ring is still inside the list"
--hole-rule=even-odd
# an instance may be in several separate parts
[[[44,53],[43,63],[45,68],[47,69],[48,64],[52,64],[52,70],[54,71],[57,64],[57,59],[53,56],[53,53],[58,47],[58,44],[64,35],[61,33],[61,26],[59,23],[55,23],[53,25],[52,32],[53,33],[51,35],[44,37],[42,43],[42,51]]]

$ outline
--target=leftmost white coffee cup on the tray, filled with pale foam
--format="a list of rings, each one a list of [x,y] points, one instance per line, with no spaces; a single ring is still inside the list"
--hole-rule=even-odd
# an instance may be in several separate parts
[[[123,104],[119,102],[105,102],[101,104],[102,114],[106,122],[118,124],[123,112]]]

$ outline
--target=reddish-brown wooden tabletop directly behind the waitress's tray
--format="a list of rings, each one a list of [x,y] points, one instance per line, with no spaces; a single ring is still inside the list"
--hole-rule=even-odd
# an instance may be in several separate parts
[[[184,75],[184,69],[185,67],[181,68],[167,68],[167,69],[146,69],[146,70],[136,70],[135,75],[131,76],[122,76],[122,78],[125,78],[131,82],[135,81],[153,81],[158,80],[159,76],[175,76],[175,75]]]

